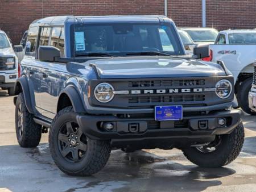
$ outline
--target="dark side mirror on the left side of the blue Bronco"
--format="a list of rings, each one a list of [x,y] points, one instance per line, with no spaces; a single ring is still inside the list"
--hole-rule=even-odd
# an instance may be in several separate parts
[[[53,46],[40,46],[38,49],[38,59],[40,61],[55,62],[60,58],[60,49]]]

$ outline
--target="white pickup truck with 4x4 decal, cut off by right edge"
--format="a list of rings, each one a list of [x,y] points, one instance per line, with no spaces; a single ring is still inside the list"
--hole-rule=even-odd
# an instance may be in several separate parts
[[[253,63],[256,60],[256,30],[220,31],[215,44],[210,45],[209,60],[221,60],[233,73],[238,106],[251,115],[248,94],[253,82]]]

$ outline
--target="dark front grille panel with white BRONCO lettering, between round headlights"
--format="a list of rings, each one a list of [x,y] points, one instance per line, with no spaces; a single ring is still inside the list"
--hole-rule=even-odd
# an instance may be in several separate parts
[[[101,82],[108,82],[115,91],[127,91],[128,94],[115,94],[112,101],[100,103],[91,97],[93,106],[112,108],[154,108],[159,105],[182,105],[184,107],[217,105],[232,100],[220,99],[212,88],[221,79],[232,80],[231,76],[210,77],[165,77],[165,78],[136,78],[91,81],[94,90]]]

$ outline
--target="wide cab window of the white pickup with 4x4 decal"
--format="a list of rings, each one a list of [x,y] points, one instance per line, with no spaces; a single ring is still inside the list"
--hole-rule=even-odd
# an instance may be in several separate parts
[[[229,34],[229,44],[256,44],[256,33]]]

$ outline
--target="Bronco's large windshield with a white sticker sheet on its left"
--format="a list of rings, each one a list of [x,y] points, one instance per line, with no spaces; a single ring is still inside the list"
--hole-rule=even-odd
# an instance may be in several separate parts
[[[74,41],[76,56],[90,53],[126,56],[140,52],[183,55],[174,28],[160,24],[75,25]]]

